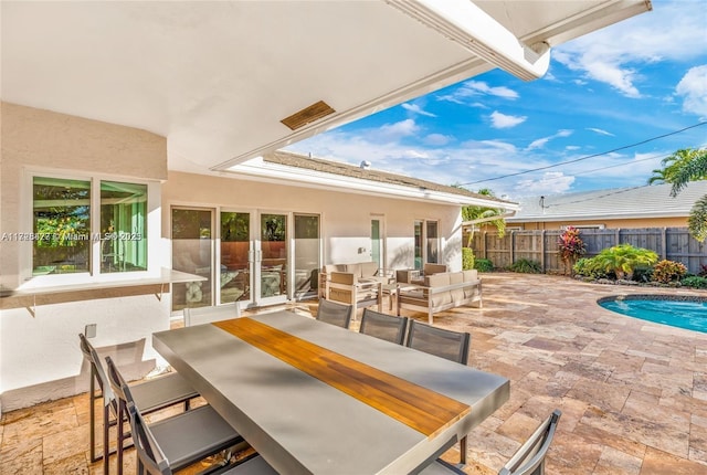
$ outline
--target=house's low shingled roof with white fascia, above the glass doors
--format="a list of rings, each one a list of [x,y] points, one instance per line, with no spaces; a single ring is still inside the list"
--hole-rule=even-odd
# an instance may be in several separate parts
[[[275,151],[231,169],[239,178],[276,181],[291,186],[447,204],[516,210],[517,204],[463,188],[420,180],[372,168],[324,160],[289,151]]]

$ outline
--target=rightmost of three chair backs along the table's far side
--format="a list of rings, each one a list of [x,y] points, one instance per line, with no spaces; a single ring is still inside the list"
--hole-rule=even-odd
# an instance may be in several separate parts
[[[472,340],[469,334],[433,327],[413,319],[408,328],[405,345],[410,348],[466,365]]]

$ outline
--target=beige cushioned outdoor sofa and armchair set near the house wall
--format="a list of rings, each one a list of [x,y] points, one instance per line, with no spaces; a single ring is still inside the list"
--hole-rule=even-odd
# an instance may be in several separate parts
[[[476,270],[449,272],[444,264],[424,264],[422,273],[415,270],[389,272],[376,262],[328,264],[320,273],[319,297],[358,308],[377,305],[382,310],[382,299],[389,299],[400,316],[405,308],[428,314],[428,323],[434,323],[434,314],[460,306],[477,304],[482,307],[482,281]]]

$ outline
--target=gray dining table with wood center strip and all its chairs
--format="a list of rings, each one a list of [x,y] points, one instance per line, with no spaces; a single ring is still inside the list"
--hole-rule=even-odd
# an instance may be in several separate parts
[[[117,426],[118,474],[128,439],[138,474],[171,474],[217,454],[223,462],[210,474],[463,474],[440,455],[461,442],[466,462],[466,434],[508,400],[509,381],[466,366],[468,334],[369,308],[351,331],[352,310],[321,300],[316,319],[288,310],[200,316],[198,325],[152,335],[176,372],[137,384],[110,357],[104,366],[80,335],[92,368],[89,403],[102,398],[104,407],[103,455],[95,455],[92,423],[92,458],[103,457],[108,475],[108,431]],[[191,408],[198,395],[207,404]],[[177,415],[145,419],[177,404],[184,404]],[[541,474],[559,415],[500,473]],[[249,455],[232,462],[244,448]]]

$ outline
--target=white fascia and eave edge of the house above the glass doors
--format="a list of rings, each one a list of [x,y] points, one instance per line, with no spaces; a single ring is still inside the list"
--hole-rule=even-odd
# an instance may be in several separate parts
[[[345,191],[349,193],[376,196],[381,198],[401,199],[408,201],[434,202],[453,205],[474,205],[499,210],[517,211],[519,205],[510,202],[498,202],[481,198],[466,197],[464,194],[447,193],[426,188],[405,187],[401,184],[386,183],[381,181],[363,180],[360,178],[344,177],[304,168],[291,167],[266,162],[260,158],[240,163],[228,170],[239,178],[254,181],[266,181],[277,184],[297,186],[302,188],[315,188],[328,191]]]

